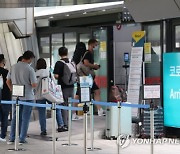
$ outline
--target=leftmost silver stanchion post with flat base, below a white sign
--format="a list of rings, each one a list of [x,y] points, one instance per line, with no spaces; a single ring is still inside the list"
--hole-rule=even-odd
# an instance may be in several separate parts
[[[14,149],[8,149],[8,151],[25,151],[25,149],[18,148],[19,144],[19,97],[16,98],[16,133],[15,133],[15,146]]]

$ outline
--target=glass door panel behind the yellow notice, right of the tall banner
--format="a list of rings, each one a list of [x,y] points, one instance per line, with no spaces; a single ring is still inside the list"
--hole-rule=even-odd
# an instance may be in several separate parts
[[[161,25],[150,24],[145,25],[146,42],[151,43],[150,61],[145,62],[145,84],[148,85],[161,85]],[[155,101],[156,105],[162,105],[160,99]]]

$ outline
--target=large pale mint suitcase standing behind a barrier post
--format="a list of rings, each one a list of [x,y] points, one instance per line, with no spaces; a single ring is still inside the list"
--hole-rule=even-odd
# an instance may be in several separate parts
[[[120,132],[124,135],[132,134],[131,108],[121,107]],[[106,112],[106,138],[116,139],[118,137],[118,108],[108,107]]]

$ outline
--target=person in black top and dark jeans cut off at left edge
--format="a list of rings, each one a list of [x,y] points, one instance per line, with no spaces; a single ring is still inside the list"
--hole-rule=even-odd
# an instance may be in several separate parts
[[[6,76],[8,74],[8,70],[4,69],[5,66],[5,58],[3,54],[0,54],[0,75],[3,78],[3,87],[0,89],[0,98],[1,100],[11,100],[11,93],[6,84]],[[6,133],[8,126],[8,115],[11,110],[11,105],[9,104],[0,104],[0,121],[1,121],[1,135],[0,141],[6,142]]]

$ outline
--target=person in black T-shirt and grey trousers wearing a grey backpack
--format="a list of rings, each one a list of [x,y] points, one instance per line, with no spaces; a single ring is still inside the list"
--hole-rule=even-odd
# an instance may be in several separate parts
[[[54,67],[54,77],[58,81],[58,85],[61,85],[64,106],[68,106],[68,98],[74,97],[74,83],[76,82],[76,67],[73,62],[68,58],[68,49],[66,47],[59,48],[60,61],[57,61]],[[62,116],[64,125],[68,126],[68,112],[63,110]]]

